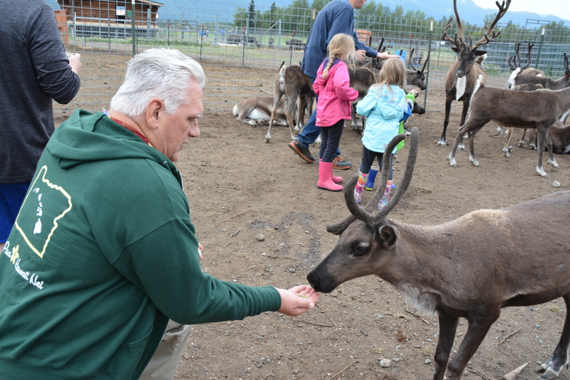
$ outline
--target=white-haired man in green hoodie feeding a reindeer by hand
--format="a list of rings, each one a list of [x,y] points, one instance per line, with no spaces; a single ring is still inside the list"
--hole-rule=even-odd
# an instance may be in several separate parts
[[[130,61],[108,114],[78,110],[53,133],[0,253],[0,379],[139,379],[169,320],[314,307],[311,287],[247,287],[200,269],[173,163],[199,136],[203,86],[192,58],[150,49]]]

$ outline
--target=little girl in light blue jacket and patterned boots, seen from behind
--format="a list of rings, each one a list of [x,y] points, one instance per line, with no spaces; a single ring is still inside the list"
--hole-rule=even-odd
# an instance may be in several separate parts
[[[380,168],[386,145],[395,135],[398,135],[400,119],[404,111],[408,110],[405,92],[405,66],[400,58],[389,58],[385,61],[378,83],[371,86],[368,94],[356,105],[356,112],[366,116],[366,129],[362,135],[362,161],[358,170],[358,183],[354,189],[356,202],[362,201],[362,190],[366,185],[368,172],[378,158]],[[392,155],[394,152],[388,152]],[[384,207],[390,197],[393,183],[392,159],[390,158],[390,172],[384,195],[378,202],[378,209]]]

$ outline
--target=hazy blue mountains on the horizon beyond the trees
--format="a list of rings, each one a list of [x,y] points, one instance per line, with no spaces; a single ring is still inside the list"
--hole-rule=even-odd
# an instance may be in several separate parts
[[[158,10],[158,15],[162,20],[183,19],[185,21],[192,21],[197,24],[217,21],[222,24],[229,24],[233,21],[233,16],[237,7],[247,9],[251,0],[242,0],[242,2],[211,0],[157,1],[164,4],[164,6],[161,6]],[[50,4],[54,9],[59,8],[56,0],[46,0],[46,2]],[[254,0],[255,9],[256,11],[261,11],[261,13],[263,13],[264,11],[268,11],[271,8],[271,4],[274,2],[277,6],[281,7],[291,4],[291,1],[287,0]],[[309,3],[310,2],[311,1],[309,1]],[[452,0],[382,0],[379,2],[385,6],[390,6],[390,9],[392,10],[394,10],[396,6],[401,5],[406,11],[423,11],[428,17],[432,16],[435,20],[438,21],[442,18],[442,16],[454,16]],[[475,25],[482,25],[484,16],[487,14],[497,14],[497,9],[483,9],[480,6],[477,6],[477,4],[475,4],[472,0],[460,0],[459,4],[457,4],[457,10],[459,11],[462,20]],[[514,11],[508,11],[501,20],[501,24],[506,24],[507,22],[511,21],[513,24],[524,26],[527,24],[527,19],[549,20],[556,22],[562,21],[566,26],[570,26],[570,20],[560,19],[559,17],[553,15],[540,16],[539,14],[530,12]],[[536,24],[527,25],[529,29],[536,26]]]

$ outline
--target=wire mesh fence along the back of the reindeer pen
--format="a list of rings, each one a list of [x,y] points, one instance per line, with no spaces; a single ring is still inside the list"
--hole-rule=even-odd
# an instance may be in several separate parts
[[[133,5],[125,1],[59,1],[56,16],[63,41],[68,51],[81,53],[83,67],[78,96],[68,105],[54,104],[56,118],[66,118],[76,108],[107,108],[123,82],[126,63],[133,54],[152,47],[176,48],[202,63],[207,78],[204,108],[209,111],[231,111],[249,96],[272,96],[281,63],[302,61],[306,38],[318,14],[308,7],[263,6],[254,1],[189,0],[186,6],[163,7],[155,1],[136,0],[134,12]],[[357,34],[373,48],[384,38],[390,53],[409,58],[414,49],[415,66],[422,65],[430,51],[427,89],[420,99],[427,111],[444,109],[445,76],[457,60],[450,43],[441,41],[446,21],[410,14],[375,16],[365,9],[355,12]],[[456,28],[454,21],[448,34],[452,36]],[[464,29],[474,41],[484,33],[483,25],[464,24]],[[546,76],[564,76],[563,53],[570,51],[570,29],[549,29],[545,22],[535,25],[532,21],[525,26],[499,24],[497,29],[502,33],[496,40],[481,47],[487,51],[487,86],[506,83],[515,43],[522,43],[522,64],[530,59],[531,66]],[[529,42],[534,43],[530,53]],[[460,103],[452,103],[452,112],[460,108]]]

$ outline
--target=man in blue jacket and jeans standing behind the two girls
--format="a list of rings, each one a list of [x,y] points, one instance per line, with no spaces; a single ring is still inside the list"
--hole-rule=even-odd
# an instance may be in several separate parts
[[[311,82],[315,81],[316,71],[326,58],[326,47],[331,42],[331,38],[335,34],[343,33],[354,37],[354,46],[356,48],[356,61],[361,61],[365,56],[378,57],[387,59],[398,57],[388,53],[378,53],[370,46],[366,46],[358,41],[358,36],[354,29],[354,9],[361,9],[366,0],[333,0],[318,12],[315,22],[309,32],[309,38],[305,46],[305,53],[301,69],[306,73]],[[314,143],[318,135],[321,134],[321,128],[316,126],[316,107],[309,118],[309,121],[303,128],[303,131],[297,135],[296,139],[289,143],[291,148],[299,157],[309,163],[314,163],[315,159],[309,151],[309,145]],[[341,151],[337,150],[336,158],[333,162],[333,168],[350,169],[352,164],[344,160]]]

